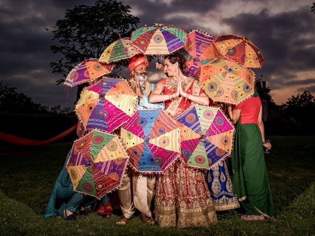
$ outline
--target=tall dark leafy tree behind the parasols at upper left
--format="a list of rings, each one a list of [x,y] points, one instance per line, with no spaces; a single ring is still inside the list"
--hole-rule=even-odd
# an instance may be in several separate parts
[[[62,58],[51,62],[53,73],[63,77],[85,58],[99,58],[103,50],[113,41],[130,36],[139,23],[139,18],[132,16],[131,7],[116,0],[97,0],[95,5],[79,5],[66,10],[62,20],[58,20],[52,29],[56,45],[51,46],[54,54],[62,54]],[[49,29],[47,29],[49,30]],[[112,72],[126,67],[126,61],[116,64]],[[60,84],[64,79],[57,80]]]

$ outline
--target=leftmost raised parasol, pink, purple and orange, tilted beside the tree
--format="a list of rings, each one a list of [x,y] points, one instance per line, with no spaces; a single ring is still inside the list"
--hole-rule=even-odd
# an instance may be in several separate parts
[[[86,59],[77,64],[67,75],[63,85],[74,87],[87,82],[92,82],[100,76],[109,74],[114,69],[114,64],[104,64],[98,59]]]

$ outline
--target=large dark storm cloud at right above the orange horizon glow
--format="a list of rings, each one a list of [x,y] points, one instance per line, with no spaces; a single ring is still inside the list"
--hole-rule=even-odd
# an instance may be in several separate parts
[[[309,8],[276,15],[264,9],[259,14],[239,14],[222,22],[235,34],[248,36],[260,49],[265,61],[262,70],[254,71],[263,74],[271,87],[278,88],[296,78],[298,71],[315,69],[315,17]]]

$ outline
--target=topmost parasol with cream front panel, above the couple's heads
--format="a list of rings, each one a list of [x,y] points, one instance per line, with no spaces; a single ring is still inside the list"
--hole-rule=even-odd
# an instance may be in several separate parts
[[[130,41],[145,55],[168,55],[186,45],[186,32],[169,24],[154,24],[134,30]]]

